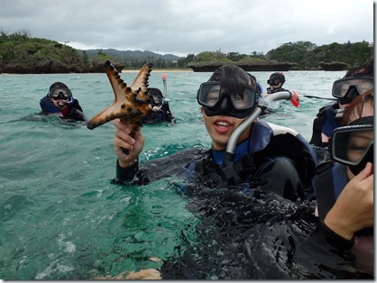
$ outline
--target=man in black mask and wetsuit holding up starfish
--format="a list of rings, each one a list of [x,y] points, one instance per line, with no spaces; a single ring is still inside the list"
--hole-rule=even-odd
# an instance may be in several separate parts
[[[256,81],[244,69],[234,65],[218,68],[197,93],[211,148],[179,151],[140,168],[144,144],[141,128],[132,136],[130,126],[115,119],[116,181],[145,184],[176,174],[205,186],[248,182],[251,186],[250,180],[258,178],[264,180],[263,189],[280,196],[295,201],[309,197],[317,157],[308,142],[290,128],[254,120],[240,134],[234,159],[227,162],[225,150],[232,133],[253,113],[258,99]],[[170,169],[162,172],[161,166]],[[209,182],[208,178],[216,181]],[[249,188],[253,190],[253,186]]]

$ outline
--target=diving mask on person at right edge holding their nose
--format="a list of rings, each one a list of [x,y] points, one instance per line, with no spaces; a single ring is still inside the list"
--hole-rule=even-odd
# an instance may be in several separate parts
[[[336,162],[345,164],[357,175],[367,162],[373,163],[373,124],[339,127],[331,135],[329,150]]]

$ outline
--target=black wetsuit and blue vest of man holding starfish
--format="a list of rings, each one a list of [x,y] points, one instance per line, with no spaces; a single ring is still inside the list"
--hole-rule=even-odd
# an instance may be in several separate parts
[[[279,130],[279,133],[275,130]],[[291,200],[310,197],[317,157],[302,136],[289,128],[259,121],[253,124],[252,135],[247,142],[247,148],[242,152],[237,153],[240,145],[235,150],[239,156],[235,163],[236,166],[240,165],[241,179],[238,183],[248,183],[253,188],[251,184],[258,178],[265,190],[280,196]],[[221,186],[228,181],[222,166],[214,161],[212,150],[180,151],[163,159],[151,160],[141,169],[138,163],[125,169],[118,162],[116,165],[115,181],[128,184],[142,185],[171,175],[179,175],[191,184],[207,187]]]

